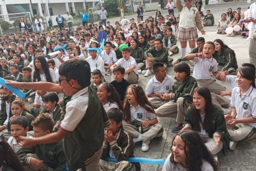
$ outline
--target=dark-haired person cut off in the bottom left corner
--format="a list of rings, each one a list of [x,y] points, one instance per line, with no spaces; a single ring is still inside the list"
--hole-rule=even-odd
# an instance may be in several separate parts
[[[23,164],[5,140],[0,139],[0,168],[2,171],[20,170],[25,171]]]

